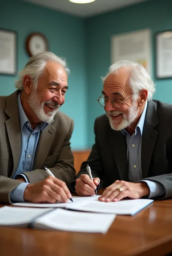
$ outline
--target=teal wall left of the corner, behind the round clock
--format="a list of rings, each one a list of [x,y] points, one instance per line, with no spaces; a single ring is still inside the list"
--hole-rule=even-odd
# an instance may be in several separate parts
[[[29,59],[25,51],[25,39],[38,31],[49,40],[50,51],[67,59],[71,74],[66,102],[61,111],[74,119],[75,129],[71,139],[73,149],[86,147],[86,66],[84,21],[57,11],[19,0],[0,1],[0,28],[18,33],[18,71]],[[0,75],[0,95],[15,91],[17,76]]]

